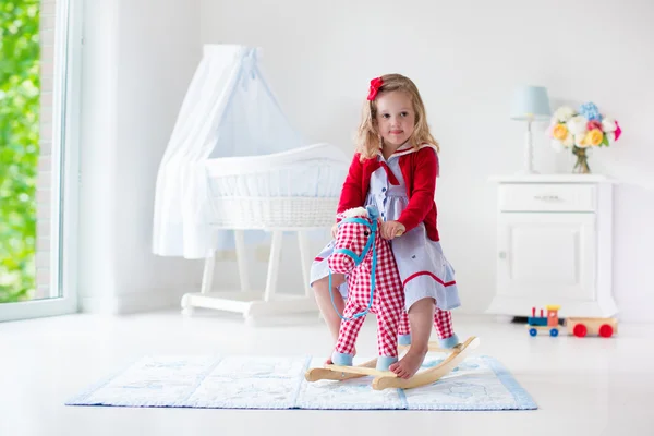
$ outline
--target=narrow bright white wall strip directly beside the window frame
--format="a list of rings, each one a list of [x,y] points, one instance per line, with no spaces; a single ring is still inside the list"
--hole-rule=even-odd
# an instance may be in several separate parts
[[[116,292],[114,226],[118,2],[84,8],[80,137],[80,296],[85,310]],[[93,299],[92,299],[93,298]]]

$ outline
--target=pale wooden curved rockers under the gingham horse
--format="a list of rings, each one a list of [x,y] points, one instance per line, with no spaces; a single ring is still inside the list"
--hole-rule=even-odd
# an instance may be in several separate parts
[[[465,356],[470,350],[474,350],[479,347],[479,338],[472,336],[463,343],[459,343],[452,349],[438,348],[436,342],[429,342],[429,351],[451,352],[440,364],[433,368],[416,373],[409,379],[398,378],[398,376],[390,371],[377,371],[375,366],[377,359],[373,359],[358,366],[339,366],[339,365],[325,365],[323,368],[311,368],[304,375],[307,382],[317,380],[348,380],[352,378],[360,378],[366,375],[372,375],[373,389],[384,390],[387,388],[402,388],[412,389],[420,386],[431,385],[436,383],[443,376],[449,374]],[[401,347],[407,349],[409,347]]]

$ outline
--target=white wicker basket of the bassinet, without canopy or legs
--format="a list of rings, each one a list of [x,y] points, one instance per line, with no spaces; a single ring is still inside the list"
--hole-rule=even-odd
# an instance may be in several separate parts
[[[331,226],[347,174],[344,155],[314,144],[264,156],[206,162],[213,227],[310,229]]]

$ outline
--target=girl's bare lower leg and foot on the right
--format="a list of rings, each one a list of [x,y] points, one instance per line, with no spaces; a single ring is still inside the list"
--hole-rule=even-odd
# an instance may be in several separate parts
[[[416,301],[409,308],[411,325],[411,348],[407,354],[390,366],[390,371],[400,378],[411,378],[422,365],[429,351],[429,336],[434,322],[434,299],[425,298]]]

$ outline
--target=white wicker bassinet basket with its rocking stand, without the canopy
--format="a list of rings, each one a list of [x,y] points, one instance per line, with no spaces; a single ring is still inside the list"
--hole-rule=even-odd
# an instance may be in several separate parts
[[[336,146],[314,144],[264,156],[208,159],[205,164],[210,203],[209,222],[215,230],[234,230],[235,256],[241,289],[214,292],[216,252],[205,259],[201,292],[182,299],[183,312],[208,307],[242,313],[246,319],[270,314],[306,312],[316,308],[308,284],[312,252],[307,231],[329,228],[335,222],[348,159]],[[250,287],[246,230],[272,233],[266,287]],[[295,232],[304,282],[301,295],[277,293],[282,233]]]

